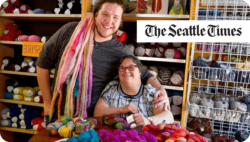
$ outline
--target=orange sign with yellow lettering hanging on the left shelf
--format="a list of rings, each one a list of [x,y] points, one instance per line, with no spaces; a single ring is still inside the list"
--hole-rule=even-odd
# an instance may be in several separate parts
[[[43,48],[42,42],[23,42],[22,55],[29,57],[38,57]]]

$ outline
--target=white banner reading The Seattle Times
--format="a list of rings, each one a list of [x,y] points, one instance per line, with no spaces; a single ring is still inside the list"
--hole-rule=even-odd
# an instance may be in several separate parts
[[[250,42],[250,21],[138,20],[137,42]]]

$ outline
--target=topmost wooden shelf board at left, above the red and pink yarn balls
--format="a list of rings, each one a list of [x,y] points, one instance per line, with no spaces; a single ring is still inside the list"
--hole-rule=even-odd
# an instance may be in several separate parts
[[[21,21],[70,22],[80,21],[81,14],[0,14],[0,18]]]

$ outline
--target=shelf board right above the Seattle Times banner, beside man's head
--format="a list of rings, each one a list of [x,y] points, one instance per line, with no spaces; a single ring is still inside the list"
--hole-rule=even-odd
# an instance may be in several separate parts
[[[87,12],[86,15],[91,14]],[[168,15],[168,14],[123,14],[124,22],[136,22],[137,20],[189,20],[189,15]]]

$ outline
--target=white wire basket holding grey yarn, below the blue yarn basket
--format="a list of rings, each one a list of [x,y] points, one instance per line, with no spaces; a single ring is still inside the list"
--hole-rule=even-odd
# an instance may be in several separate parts
[[[217,121],[225,121],[225,122],[241,123],[241,124],[249,125],[248,123],[241,122],[241,115],[244,116],[243,118],[244,121],[245,119],[248,120],[250,118],[249,112],[198,105],[199,108],[197,109],[197,112],[192,113],[191,109],[192,107],[195,107],[196,105],[193,103],[190,104],[190,102],[188,102],[188,106],[189,106],[189,114],[192,117],[207,118],[207,119],[212,119],[212,120],[217,120]],[[210,114],[208,114],[209,111],[210,111]],[[204,113],[207,113],[208,115],[205,116]]]

